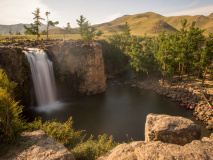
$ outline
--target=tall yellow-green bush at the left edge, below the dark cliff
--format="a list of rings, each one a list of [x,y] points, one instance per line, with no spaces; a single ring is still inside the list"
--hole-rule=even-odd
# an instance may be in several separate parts
[[[23,106],[14,100],[15,86],[16,84],[9,82],[7,75],[0,69],[0,142],[3,143],[16,140],[23,130]]]

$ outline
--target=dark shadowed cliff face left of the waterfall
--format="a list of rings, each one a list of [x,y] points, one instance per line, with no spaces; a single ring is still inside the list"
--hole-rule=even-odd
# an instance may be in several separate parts
[[[17,83],[15,98],[20,104],[30,104],[30,64],[20,48],[0,48],[0,68],[2,68],[10,81]]]

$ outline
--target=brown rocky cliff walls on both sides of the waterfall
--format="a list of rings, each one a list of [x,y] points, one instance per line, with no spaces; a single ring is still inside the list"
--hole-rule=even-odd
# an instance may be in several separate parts
[[[28,44],[28,43],[26,43]],[[53,61],[58,97],[92,95],[104,92],[106,75],[101,45],[85,45],[81,40],[29,41],[29,47],[43,49]],[[16,46],[0,48],[0,67],[4,69],[10,81],[17,83],[15,95],[17,101],[29,106],[32,102],[32,80],[30,64],[23,50]]]

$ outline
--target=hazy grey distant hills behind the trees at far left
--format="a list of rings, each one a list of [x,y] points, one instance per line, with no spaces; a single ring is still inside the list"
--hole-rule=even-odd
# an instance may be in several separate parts
[[[11,29],[12,31],[12,34],[15,35],[16,32],[20,32],[21,34],[24,34],[24,27],[23,25],[26,25],[27,27],[30,26],[30,24],[13,24],[13,25],[0,25],[0,34],[1,35],[9,35],[9,30]],[[53,28],[58,28],[58,27],[53,27],[53,26],[50,26],[49,27],[50,29],[53,29]],[[39,26],[39,31],[43,31],[43,30],[46,30],[47,29],[47,26],[46,25],[41,25]]]

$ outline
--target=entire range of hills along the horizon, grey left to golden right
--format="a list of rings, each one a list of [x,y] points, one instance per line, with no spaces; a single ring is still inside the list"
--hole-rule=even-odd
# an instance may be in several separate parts
[[[192,21],[196,22],[195,27],[205,29],[204,34],[209,32],[213,33],[213,13],[208,16],[196,15],[196,16],[170,16],[165,17],[154,12],[146,12],[135,15],[124,15],[122,17],[116,18],[110,22],[93,25],[97,29],[100,29],[104,34],[115,34],[122,33],[125,23],[128,22],[131,28],[131,34],[133,35],[144,35],[147,34],[158,34],[161,31],[166,31],[168,33],[180,32],[181,20],[187,19],[188,23],[191,24]],[[24,24],[16,25],[0,25],[0,34],[9,34],[9,29],[11,28],[13,34],[16,31],[24,34]],[[29,26],[29,24],[26,24]],[[46,30],[46,25],[39,27],[40,31]],[[63,29],[59,27],[50,27],[50,34],[63,34]],[[78,28],[73,28],[71,33],[78,33]]]

